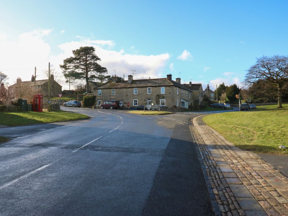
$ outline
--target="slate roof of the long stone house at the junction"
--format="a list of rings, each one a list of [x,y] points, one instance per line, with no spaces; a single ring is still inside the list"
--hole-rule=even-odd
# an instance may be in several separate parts
[[[176,86],[182,89],[189,90],[184,85],[177,83],[174,80],[169,80],[167,78],[157,78],[157,79],[136,79],[132,82],[128,80],[117,81],[113,83],[109,81],[102,84],[101,86],[96,86],[94,89],[117,89],[117,88],[135,88],[135,87],[150,87],[150,86]]]

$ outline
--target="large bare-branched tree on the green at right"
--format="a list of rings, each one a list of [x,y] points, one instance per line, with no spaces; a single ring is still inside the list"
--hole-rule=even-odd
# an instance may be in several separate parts
[[[282,107],[282,94],[287,88],[288,79],[288,56],[274,55],[257,58],[256,64],[251,66],[246,73],[247,85],[256,83],[258,80],[266,81],[271,91],[277,91],[278,108]]]

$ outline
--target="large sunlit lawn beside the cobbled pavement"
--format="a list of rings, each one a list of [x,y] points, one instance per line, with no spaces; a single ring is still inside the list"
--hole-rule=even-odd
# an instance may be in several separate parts
[[[287,104],[284,104],[288,108]],[[203,117],[207,125],[243,150],[256,153],[288,154],[288,109],[274,109],[277,105],[257,108],[252,112],[228,112]],[[274,108],[273,108],[274,107]]]

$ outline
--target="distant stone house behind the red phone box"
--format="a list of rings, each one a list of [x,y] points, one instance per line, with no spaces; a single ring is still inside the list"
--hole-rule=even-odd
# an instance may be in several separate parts
[[[51,81],[51,96],[57,96],[62,92],[62,86],[54,80],[54,75],[50,75]],[[36,90],[41,90],[43,94],[48,95],[48,79],[36,80],[35,76],[32,75],[31,81],[22,81],[21,78],[17,78],[16,84],[10,86],[10,88],[16,87],[17,85],[35,86]]]

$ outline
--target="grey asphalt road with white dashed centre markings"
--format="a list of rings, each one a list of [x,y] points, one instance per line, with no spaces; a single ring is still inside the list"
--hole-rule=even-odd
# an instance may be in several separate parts
[[[203,113],[63,108],[90,120],[0,128],[0,215],[213,215],[189,131]]]

